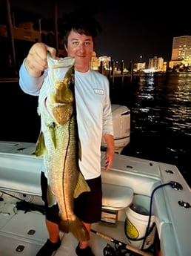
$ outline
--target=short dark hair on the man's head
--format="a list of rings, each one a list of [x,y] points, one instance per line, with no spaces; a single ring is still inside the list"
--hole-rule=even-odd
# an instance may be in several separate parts
[[[88,13],[73,12],[64,16],[59,29],[64,36],[64,45],[67,46],[68,35],[71,30],[86,36],[92,36],[95,43],[98,32],[101,32],[101,26],[96,19]]]

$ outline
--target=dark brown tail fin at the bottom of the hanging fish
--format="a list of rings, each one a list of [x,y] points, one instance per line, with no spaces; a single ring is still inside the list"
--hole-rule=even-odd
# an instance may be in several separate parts
[[[90,234],[78,217],[75,220],[60,220],[58,225],[62,232],[71,232],[78,241],[90,240]]]

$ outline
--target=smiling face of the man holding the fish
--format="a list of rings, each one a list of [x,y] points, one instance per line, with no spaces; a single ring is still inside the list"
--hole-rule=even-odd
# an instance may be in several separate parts
[[[66,50],[67,56],[75,57],[76,66],[89,67],[93,56],[93,38],[71,30]]]

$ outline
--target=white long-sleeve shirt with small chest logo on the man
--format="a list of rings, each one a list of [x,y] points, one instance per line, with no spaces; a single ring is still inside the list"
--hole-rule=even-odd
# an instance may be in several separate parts
[[[39,78],[27,72],[24,62],[19,70],[19,85],[27,94],[38,96],[48,70]],[[113,135],[109,81],[94,70],[75,70],[75,95],[78,135],[81,141],[79,167],[86,180],[101,174],[101,138]],[[46,172],[46,170],[43,170]]]

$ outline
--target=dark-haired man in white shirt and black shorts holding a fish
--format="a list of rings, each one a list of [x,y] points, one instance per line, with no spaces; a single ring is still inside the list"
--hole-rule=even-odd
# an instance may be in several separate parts
[[[91,17],[75,16],[64,27],[64,44],[67,56],[75,58],[75,97],[78,135],[81,141],[81,161],[79,166],[90,192],[82,193],[74,199],[74,212],[84,223],[90,234],[92,223],[101,219],[101,137],[107,142],[105,153],[108,170],[114,157],[113,121],[110,104],[109,82],[106,76],[90,70],[98,27]],[[21,89],[30,95],[38,96],[47,67],[47,51],[56,58],[56,49],[36,43],[30,48],[19,71]],[[47,206],[46,170],[41,170],[42,198]],[[49,256],[61,245],[58,228],[58,205],[46,207],[46,225],[49,239],[36,256]],[[88,246],[89,241],[80,241],[76,247],[76,255],[93,256]]]

